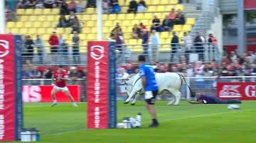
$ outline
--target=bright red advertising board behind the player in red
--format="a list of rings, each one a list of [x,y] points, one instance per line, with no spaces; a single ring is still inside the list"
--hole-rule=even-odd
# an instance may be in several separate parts
[[[67,86],[75,102],[80,101],[80,86]],[[53,86],[23,86],[22,97],[25,103],[53,102],[50,91]],[[69,98],[60,91],[56,94],[58,102],[70,102]]]

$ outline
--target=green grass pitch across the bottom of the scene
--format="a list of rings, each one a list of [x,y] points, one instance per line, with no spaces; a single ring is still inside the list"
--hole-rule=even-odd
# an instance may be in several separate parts
[[[118,103],[119,121],[142,113],[139,129],[87,130],[86,103],[73,108],[69,103],[27,103],[24,105],[25,127],[36,127],[41,142],[52,143],[235,143],[256,142],[256,102],[247,101],[240,110],[228,110],[227,105],[190,105],[183,101],[177,106],[156,103],[158,128],[148,128],[151,122],[144,103]]]

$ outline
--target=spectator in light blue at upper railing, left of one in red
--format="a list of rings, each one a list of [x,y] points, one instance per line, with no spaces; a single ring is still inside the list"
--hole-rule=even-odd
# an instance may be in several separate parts
[[[46,54],[46,50],[40,35],[36,35],[35,47],[37,48],[37,51],[38,51],[37,53],[39,57],[39,64],[43,64],[43,57]]]

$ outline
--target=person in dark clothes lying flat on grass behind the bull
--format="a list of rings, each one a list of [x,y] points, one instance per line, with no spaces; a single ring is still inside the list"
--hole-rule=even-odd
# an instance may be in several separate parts
[[[240,104],[239,99],[221,100],[215,96],[206,96],[201,93],[196,94],[196,101],[188,101],[191,104]]]

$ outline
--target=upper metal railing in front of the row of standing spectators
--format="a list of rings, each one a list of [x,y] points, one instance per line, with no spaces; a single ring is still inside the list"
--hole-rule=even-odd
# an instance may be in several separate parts
[[[218,47],[211,43],[160,44],[160,45],[115,45],[117,62],[137,62],[138,55],[146,55],[149,61],[161,63],[178,63],[181,57],[187,62],[198,60],[211,62],[218,60]],[[46,52],[46,49],[47,52]],[[57,47],[23,46],[23,63],[26,59],[37,65],[85,65],[87,63],[86,45],[64,45]]]

